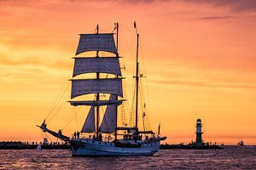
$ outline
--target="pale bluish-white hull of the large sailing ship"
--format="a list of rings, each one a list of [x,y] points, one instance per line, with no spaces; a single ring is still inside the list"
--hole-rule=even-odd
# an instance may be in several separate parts
[[[91,139],[78,139],[76,142],[79,144],[71,144],[72,156],[151,156],[160,149],[160,141],[136,148]]]

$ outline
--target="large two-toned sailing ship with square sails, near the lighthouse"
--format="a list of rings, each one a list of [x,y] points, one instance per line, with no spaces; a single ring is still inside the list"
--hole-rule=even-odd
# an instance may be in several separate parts
[[[136,23],[134,26],[136,28]],[[160,149],[160,140],[166,139],[166,137],[160,137],[160,126],[157,134],[152,130],[140,129],[138,126],[139,82],[142,75],[139,74],[139,34],[137,28],[135,123],[123,127],[118,126],[119,106],[125,102],[118,52],[118,23],[115,23],[114,31],[115,33],[99,33],[99,26],[97,25],[96,33],[80,34],[76,56],[73,58],[74,69],[69,102],[73,106],[87,105],[90,107],[81,131],[74,133],[73,137],[69,138],[63,135],[61,130],[55,132],[47,128],[45,120],[41,126],[38,126],[44,132],[70,144],[72,156],[150,156]],[[114,34],[116,35],[116,42],[114,41]],[[96,52],[96,56],[78,56],[92,51]],[[112,56],[100,56],[99,52],[108,52]],[[94,73],[96,78],[76,78],[88,73]],[[101,74],[112,75],[112,77],[102,78],[100,77]],[[94,94],[94,99],[74,100],[76,97],[88,94]],[[102,99],[102,94],[107,94],[108,99]],[[105,107],[106,110],[100,124],[101,107]],[[105,134],[108,138],[102,138],[102,135]]]

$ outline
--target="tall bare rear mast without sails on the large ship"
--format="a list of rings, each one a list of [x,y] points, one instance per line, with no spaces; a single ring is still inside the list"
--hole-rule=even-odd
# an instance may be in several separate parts
[[[136,22],[134,22],[134,27],[137,33]],[[137,54],[136,54],[136,111],[135,111],[135,127],[137,127],[137,112],[138,112],[138,82],[139,82],[139,62],[138,62],[138,46],[139,46],[139,34],[137,33]]]

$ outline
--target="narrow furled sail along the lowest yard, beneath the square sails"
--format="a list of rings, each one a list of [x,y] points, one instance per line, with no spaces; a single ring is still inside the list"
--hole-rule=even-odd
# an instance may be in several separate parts
[[[94,106],[101,106],[101,105],[121,105],[123,100],[85,100],[85,101],[69,101],[71,105],[94,105]]]

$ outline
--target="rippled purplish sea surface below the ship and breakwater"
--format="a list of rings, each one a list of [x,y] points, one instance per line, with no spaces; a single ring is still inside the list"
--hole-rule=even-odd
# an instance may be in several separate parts
[[[0,169],[256,169],[256,146],[160,150],[154,156],[72,157],[68,150],[0,150]]]

